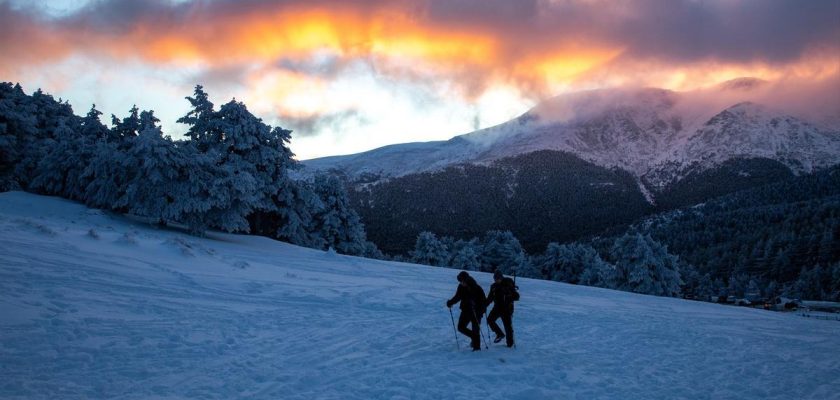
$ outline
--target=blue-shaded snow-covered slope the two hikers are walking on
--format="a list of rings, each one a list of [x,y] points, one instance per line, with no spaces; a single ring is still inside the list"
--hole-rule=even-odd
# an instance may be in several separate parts
[[[517,282],[517,349],[471,353],[461,337],[459,351],[444,306],[456,272],[244,235],[196,238],[3,193],[0,398],[840,392],[836,321],[545,281]]]

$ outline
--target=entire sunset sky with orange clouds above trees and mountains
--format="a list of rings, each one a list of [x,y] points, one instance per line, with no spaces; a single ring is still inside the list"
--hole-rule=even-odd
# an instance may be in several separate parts
[[[175,138],[202,84],[293,129],[308,159],[447,139],[576,90],[837,85],[840,0],[0,0],[0,54],[0,81],[77,114],[153,109]]]

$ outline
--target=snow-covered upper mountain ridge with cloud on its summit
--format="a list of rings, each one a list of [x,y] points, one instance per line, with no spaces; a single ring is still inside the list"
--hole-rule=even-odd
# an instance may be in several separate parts
[[[756,103],[722,103],[764,84],[742,78],[694,92],[652,88],[578,92],[448,141],[392,145],[308,160],[304,165],[310,172],[338,169],[351,177],[369,173],[385,178],[558,150],[627,170],[659,190],[689,172],[733,158],[769,158],[795,173],[840,162],[840,129]]]

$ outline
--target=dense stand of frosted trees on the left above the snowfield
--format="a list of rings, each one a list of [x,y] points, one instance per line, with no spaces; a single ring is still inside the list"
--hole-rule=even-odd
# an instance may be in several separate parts
[[[62,196],[190,232],[248,232],[344,254],[381,257],[335,177],[292,179],[291,131],[265,124],[245,104],[216,108],[197,86],[178,120],[186,138],[164,136],[152,110],[111,116],[92,106],[0,84],[0,190]]]

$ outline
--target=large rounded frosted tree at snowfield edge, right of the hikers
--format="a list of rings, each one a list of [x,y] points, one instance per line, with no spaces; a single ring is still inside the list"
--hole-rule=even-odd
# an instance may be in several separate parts
[[[679,260],[650,235],[627,232],[610,251],[616,267],[616,288],[658,296],[680,294]]]

